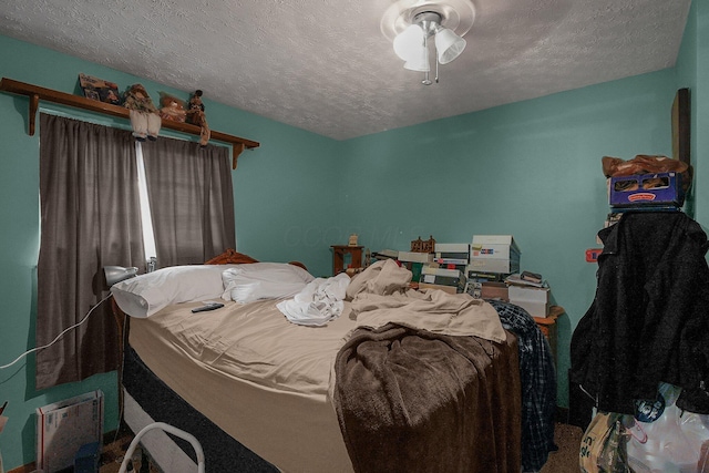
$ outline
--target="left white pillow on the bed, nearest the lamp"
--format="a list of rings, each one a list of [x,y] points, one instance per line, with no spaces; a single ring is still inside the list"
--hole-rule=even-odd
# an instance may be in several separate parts
[[[224,268],[225,265],[171,266],[117,282],[111,294],[125,313],[146,318],[172,304],[220,297]]]

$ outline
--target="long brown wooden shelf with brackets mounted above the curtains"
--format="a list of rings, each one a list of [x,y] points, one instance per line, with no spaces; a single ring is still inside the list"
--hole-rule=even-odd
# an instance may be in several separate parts
[[[12,79],[8,78],[2,78],[2,80],[0,80],[0,91],[18,95],[27,95],[30,99],[30,114],[28,117],[28,133],[30,136],[34,135],[34,123],[37,121],[37,111],[39,110],[40,100],[129,120],[129,111],[123,106],[90,100],[80,95],[72,95],[64,92],[53,91],[51,89],[44,89],[38,85],[13,81]],[[171,120],[163,120],[162,127],[197,136],[199,136],[201,131],[199,126],[192,125],[189,123],[173,122]],[[251,140],[246,140],[215,131],[212,131],[212,140],[220,141],[232,145],[232,166],[235,169],[239,154],[242,154],[244,150],[251,150],[260,145],[258,142]]]

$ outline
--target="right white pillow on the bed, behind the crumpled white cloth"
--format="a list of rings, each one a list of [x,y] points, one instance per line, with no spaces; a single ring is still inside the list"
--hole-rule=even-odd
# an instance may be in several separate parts
[[[254,263],[224,270],[222,279],[222,298],[246,304],[295,296],[315,277],[298,266],[285,263]]]

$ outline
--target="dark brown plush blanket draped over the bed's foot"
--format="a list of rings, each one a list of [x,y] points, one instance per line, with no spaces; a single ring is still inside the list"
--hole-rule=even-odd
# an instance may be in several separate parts
[[[517,342],[395,323],[339,352],[335,407],[356,472],[521,471]]]

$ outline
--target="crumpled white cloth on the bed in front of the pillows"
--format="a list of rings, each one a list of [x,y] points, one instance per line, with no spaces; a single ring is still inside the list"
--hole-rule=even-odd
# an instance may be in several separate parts
[[[331,278],[316,278],[292,299],[278,302],[276,307],[292,323],[322,326],[342,313],[349,284],[350,277],[345,273]]]

